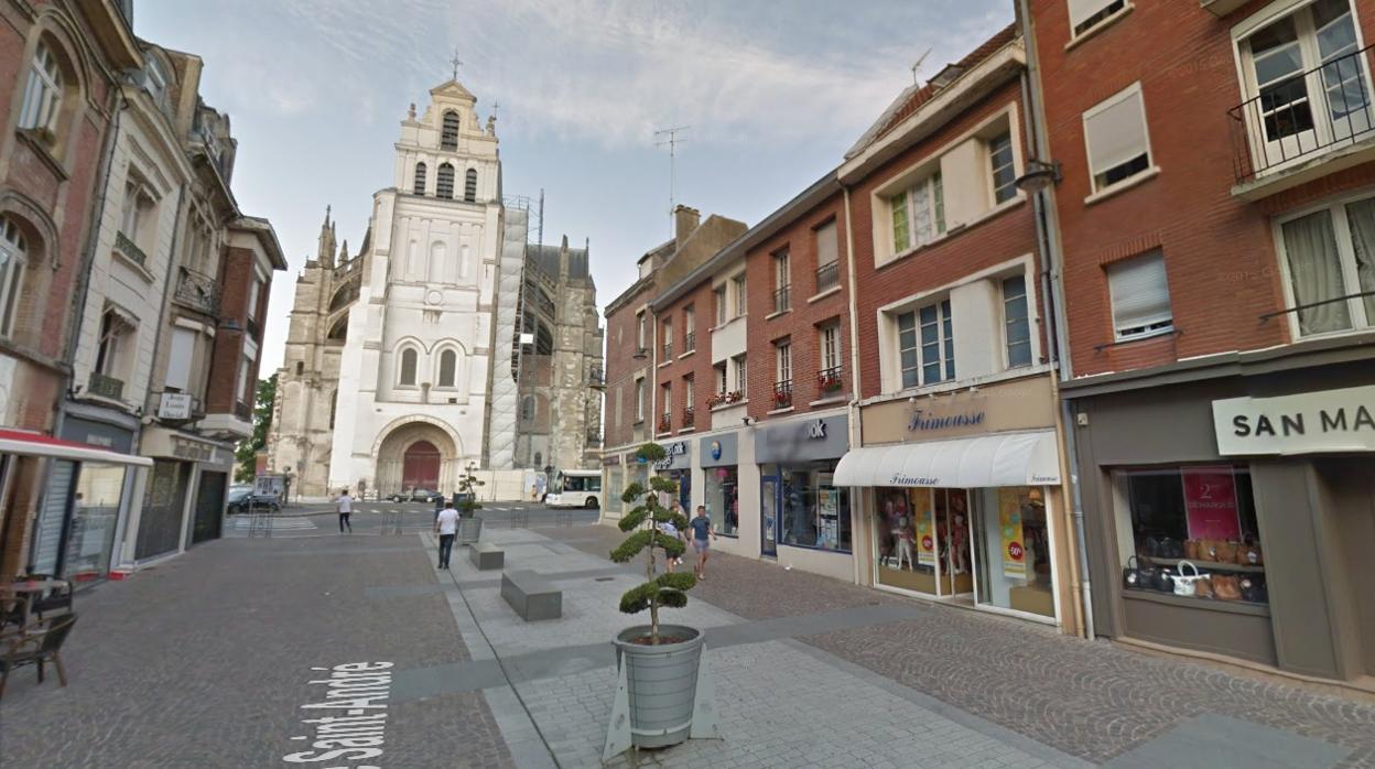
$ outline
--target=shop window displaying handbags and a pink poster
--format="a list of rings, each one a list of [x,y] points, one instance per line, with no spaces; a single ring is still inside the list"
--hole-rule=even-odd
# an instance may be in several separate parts
[[[1246,466],[1128,469],[1112,480],[1125,589],[1269,603]]]

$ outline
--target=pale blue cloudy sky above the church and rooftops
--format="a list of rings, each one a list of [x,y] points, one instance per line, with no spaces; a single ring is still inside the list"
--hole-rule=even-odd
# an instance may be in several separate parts
[[[499,105],[505,194],[543,191],[546,243],[590,242],[604,307],[671,232],[656,131],[688,127],[678,202],[752,226],[839,165],[917,59],[924,81],[1011,21],[1012,0],[135,0],[133,26],[205,61],[235,197],[286,250],[267,376],[324,206],[356,252],[407,105],[455,51],[484,122]]]

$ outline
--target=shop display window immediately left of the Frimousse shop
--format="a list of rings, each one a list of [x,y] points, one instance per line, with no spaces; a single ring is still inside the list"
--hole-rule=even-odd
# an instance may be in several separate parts
[[[850,495],[833,483],[836,462],[766,468],[778,477],[778,543],[851,552]]]

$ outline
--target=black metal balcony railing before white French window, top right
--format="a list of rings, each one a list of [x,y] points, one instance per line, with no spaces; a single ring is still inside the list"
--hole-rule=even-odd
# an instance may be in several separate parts
[[[1226,111],[1238,183],[1375,135],[1371,50],[1270,83]]]

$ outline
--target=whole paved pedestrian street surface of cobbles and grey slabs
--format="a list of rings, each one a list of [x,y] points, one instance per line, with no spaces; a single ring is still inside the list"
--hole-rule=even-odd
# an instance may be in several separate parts
[[[0,766],[601,763],[608,640],[638,620],[616,609],[639,581],[605,557],[617,531],[484,531],[564,592],[538,623],[465,550],[437,571],[426,532],[326,531],[212,542],[80,596],[70,685],[14,675]],[[774,564],[715,554],[708,575],[668,620],[705,630],[723,739],[612,766],[1375,766],[1363,704]],[[344,675],[378,699],[319,707]],[[364,721],[381,754],[305,752]]]

